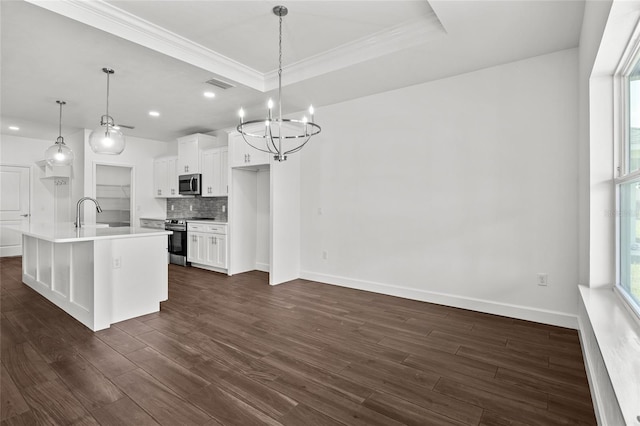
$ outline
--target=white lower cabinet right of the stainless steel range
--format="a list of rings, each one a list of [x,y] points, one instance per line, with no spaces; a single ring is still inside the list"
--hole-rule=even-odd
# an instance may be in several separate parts
[[[188,222],[187,262],[205,269],[226,270],[227,225]]]

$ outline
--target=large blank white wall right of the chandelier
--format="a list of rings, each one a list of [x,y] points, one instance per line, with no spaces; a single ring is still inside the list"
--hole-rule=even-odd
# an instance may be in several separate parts
[[[321,108],[302,276],[575,327],[577,65],[570,49]]]

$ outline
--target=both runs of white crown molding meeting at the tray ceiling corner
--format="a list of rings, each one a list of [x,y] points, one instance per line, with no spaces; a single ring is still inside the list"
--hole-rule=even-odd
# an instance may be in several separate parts
[[[99,30],[220,76],[266,92],[278,87],[278,72],[261,73],[231,58],[168,31],[103,0],[25,0]],[[318,77],[355,64],[427,43],[446,35],[437,15],[404,22],[373,35],[288,65],[283,85]]]

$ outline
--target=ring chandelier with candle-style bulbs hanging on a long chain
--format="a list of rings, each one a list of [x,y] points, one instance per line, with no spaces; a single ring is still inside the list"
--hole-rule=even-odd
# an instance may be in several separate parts
[[[273,8],[273,13],[279,17],[280,21],[278,117],[273,117],[273,101],[271,99],[267,102],[266,119],[244,121],[245,112],[240,108],[240,124],[238,124],[237,130],[252,148],[273,154],[273,158],[277,161],[285,161],[288,154],[300,151],[309,142],[311,136],[320,133],[321,129],[313,122],[313,106],[309,107],[310,120],[306,116],[301,120],[282,118],[282,17],[287,15],[288,10],[284,6],[276,6]]]

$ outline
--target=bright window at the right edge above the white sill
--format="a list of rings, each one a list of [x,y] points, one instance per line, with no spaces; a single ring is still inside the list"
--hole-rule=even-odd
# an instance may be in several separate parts
[[[636,49],[638,52],[638,49]],[[617,287],[640,314],[640,54],[619,74],[619,116],[624,157],[616,180],[618,193]]]

